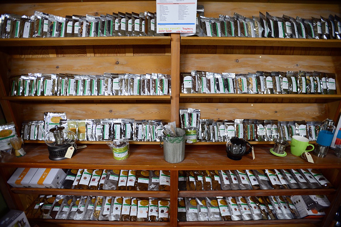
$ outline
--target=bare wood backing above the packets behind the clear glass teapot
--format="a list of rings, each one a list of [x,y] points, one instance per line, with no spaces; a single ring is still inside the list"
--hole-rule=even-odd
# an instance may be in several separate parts
[[[21,120],[43,120],[44,112],[65,112],[69,119],[134,118],[170,120],[167,103],[24,103]]]

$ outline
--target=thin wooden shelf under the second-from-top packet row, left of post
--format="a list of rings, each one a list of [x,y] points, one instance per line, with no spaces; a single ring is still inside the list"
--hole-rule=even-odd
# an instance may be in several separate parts
[[[115,100],[149,100],[170,101],[169,95],[117,95],[117,96],[4,96],[3,100],[10,101],[115,101]]]

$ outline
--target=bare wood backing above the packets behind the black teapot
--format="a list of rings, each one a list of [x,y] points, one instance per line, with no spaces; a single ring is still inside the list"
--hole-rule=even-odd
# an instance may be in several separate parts
[[[201,119],[277,119],[322,121],[329,116],[326,104],[315,103],[180,103],[180,109],[201,110]]]

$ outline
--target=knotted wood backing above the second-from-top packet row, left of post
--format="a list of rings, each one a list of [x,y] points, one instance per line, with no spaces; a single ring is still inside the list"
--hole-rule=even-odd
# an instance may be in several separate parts
[[[47,57],[12,60],[10,75],[39,72],[87,75],[103,74],[104,72],[170,74],[170,56]]]

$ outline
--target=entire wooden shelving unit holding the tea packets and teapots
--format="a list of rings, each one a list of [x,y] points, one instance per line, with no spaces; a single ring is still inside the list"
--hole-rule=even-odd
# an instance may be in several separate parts
[[[199,1],[205,6],[205,16],[233,15],[238,12],[251,17],[259,11],[271,15],[299,15],[328,17],[340,14],[340,3],[317,1],[248,1],[240,8],[238,1]],[[35,10],[54,15],[110,13],[108,9],[126,12],[155,12],[154,0],[93,1],[93,2],[22,2],[0,4],[0,13],[31,15]],[[75,11],[75,9],[77,9]],[[304,9],[304,10],[302,10]],[[129,11],[130,12],[130,11]],[[278,119],[322,121],[338,119],[341,95],[251,95],[251,94],[181,94],[180,72],[205,70],[210,72],[248,73],[262,71],[324,71],[336,73],[337,91],[341,91],[341,41],[315,39],[234,38],[234,37],[75,37],[0,39],[0,103],[5,118],[18,129],[23,120],[42,120],[44,112],[65,112],[70,119],[134,118],[176,121],[179,109],[201,110],[207,119]],[[26,73],[102,74],[151,72],[166,73],[172,77],[172,96],[53,96],[10,97],[11,76]],[[79,141],[87,144],[68,160],[51,161],[43,141],[26,141],[27,155],[16,158],[0,157],[0,189],[11,209],[26,210],[37,194],[73,194],[146,196],[170,198],[170,222],[93,222],[73,220],[34,219],[41,226],[329,226],[333,214],[341,203],[341,159],[332,151],[326,158],[314,158],[314,164],[293,156],[287,149],[286,157],[273,156],[269,149],[273,142],[251,142],[251,154],[240,161],[226,157],[225,142],[198,142],[186,145],[185,159],[170,164],[163,158],[159,142],[131,142],[127,160],[117,161],[105,141]],[[42,188],[11,188],[6,184],[17,167],[40,168],[94,168],[170,170],[170,191],[106,191],[66,190]],[[319,168],[331,181],[331,189],[289,190],[230,190],[230,191],[178,191],[178,170],[210,169],[288,169]],[[332,202],[326,216],[320,219],[259,220],[230,222],[177,222],[177,198],[188,196],[248,196],[248,195],[327,195]]]

